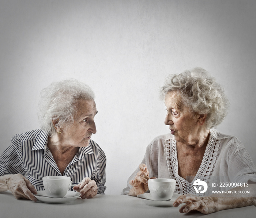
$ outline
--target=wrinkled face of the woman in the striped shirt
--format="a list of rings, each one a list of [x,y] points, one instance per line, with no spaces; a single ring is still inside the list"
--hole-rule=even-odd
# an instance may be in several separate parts
[[[97,112],[94,100],[78,100],[74,123],[61,133],[64,144],[73,147],[88,146],[91,135],[96,133],[94,116]]]

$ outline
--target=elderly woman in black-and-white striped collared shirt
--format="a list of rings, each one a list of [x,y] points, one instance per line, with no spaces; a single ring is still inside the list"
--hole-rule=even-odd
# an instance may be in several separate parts
[[[104,194],[106,156],[96,133],[94,93],[77,80],[52,83],[41,92],[41,129],[15,135],[0,156],[0,191],[36,201],[42,177],[69,176],[81,198]]]

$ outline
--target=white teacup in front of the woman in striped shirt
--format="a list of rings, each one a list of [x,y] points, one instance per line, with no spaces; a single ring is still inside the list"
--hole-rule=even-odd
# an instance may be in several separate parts
[[[47,196],[63,198],[72,186],[72,181],[68,176],[45,176],[43,184]]]

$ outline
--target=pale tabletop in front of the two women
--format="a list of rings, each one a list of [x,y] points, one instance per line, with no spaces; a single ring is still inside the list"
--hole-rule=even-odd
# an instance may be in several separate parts
[[[256,207],[248,206],[204,215],[199,212],[181,214],[177,207],[148,206],[140,198],[128,195],[96,195],[78,198],[70,203],[48,204],[17,200],[9,191],[0,192],[0,218],[165,218],[165,217],[255,217]]]

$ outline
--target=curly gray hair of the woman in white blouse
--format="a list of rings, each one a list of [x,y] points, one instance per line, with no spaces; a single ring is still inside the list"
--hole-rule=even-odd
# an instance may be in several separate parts
[[[229,100],[224,89],[203,68],[167,76],[165,84],[161,87],[161,99],[171,91],[180,93],[185,106],[193,112],[207,114],[207,129],[221,124],[227,115]]]

